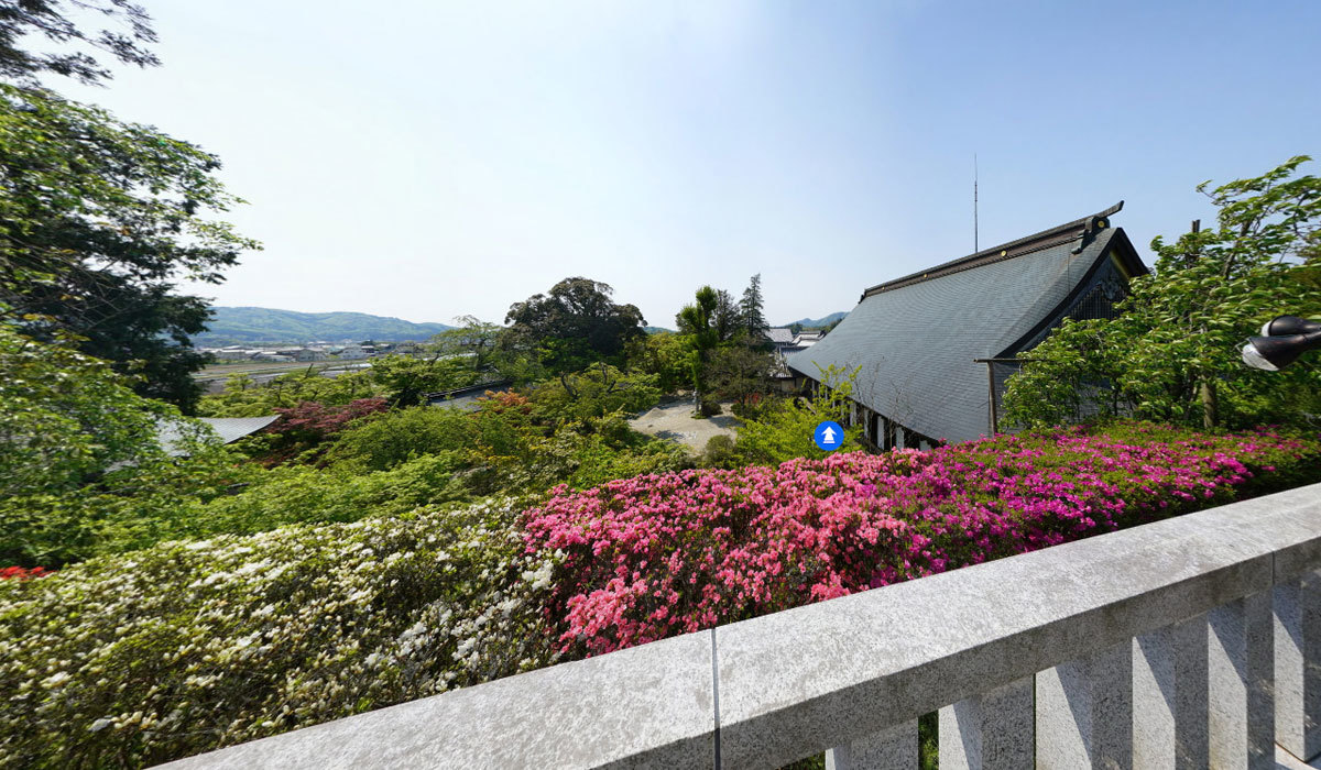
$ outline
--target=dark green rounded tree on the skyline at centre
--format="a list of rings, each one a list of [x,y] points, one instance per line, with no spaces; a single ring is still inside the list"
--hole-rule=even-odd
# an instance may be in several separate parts
[[[613,293],[609,284],[569,277],[548,295],[514,302],[505,316],[511,325],[505,349],[535,355],[550,374],[601,361],[622,365],[629,341],[646,334],[646,320],[635,306],[614,304]]]

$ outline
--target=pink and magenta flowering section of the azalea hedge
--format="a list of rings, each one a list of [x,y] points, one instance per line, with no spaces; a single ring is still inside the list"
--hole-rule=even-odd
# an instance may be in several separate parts
[[[594,655],[1221,505],[1318,456],[1264,432],[1122,435],[561,486],[526,514],[527,551],[565,553],[548,619],[561,652]]]

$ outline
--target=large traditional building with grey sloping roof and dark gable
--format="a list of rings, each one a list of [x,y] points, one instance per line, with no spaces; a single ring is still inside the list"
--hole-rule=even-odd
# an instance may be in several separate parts
[[[997,432],[1015,357],[1065,318],[1114,317],[1128,281],[1148,272],[1110,225],[1122,207],[871,287],[786,363],[808,390],[818,366],[861,367],[852,420],[881,449]]]

